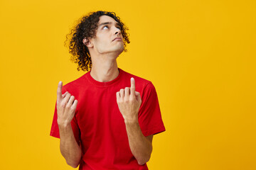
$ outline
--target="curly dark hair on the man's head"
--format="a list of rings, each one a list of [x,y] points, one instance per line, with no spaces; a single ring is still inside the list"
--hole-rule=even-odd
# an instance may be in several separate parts
[[[79,23],[75,28],[70,30],[70,33],[66,35],[66,42],[69,41],[69,53],[72,55],[70,60],[78,63],[78,71],[90,71],[92,69],[92,60],[90,57],[90,52],[87,46],[82,42],[85,38],[89,40],[90,38],[95,38],[96,30],[98,27],[98,22],[100,21],[100,16],[110,16],[121,26],[121,33],[124,38],[124,52],[127,52],[125,48],[127,43],[129,44],[129,33],[127,33],[127,26],[122,23],[120,18],[116,16],[114,12],[107,11],[96,11],[90,12],[86,16],[82,16]],[[70,37],[70,38],[69,38]]]

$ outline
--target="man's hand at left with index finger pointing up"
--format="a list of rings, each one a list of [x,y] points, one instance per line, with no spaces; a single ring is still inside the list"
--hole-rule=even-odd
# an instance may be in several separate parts
[[[62,94],[63,83],[60,81],[58,83],[57,89],[57,123],[58,125],[68,125],[75,115],[75,109],[78,105],[78,100],[75,100],[74,96],[65,92]]]

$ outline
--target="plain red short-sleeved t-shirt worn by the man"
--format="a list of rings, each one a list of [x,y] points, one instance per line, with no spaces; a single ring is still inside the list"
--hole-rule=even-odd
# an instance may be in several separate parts
[[[116,93],[131,86],[131,77],[135,80],[135,91],[142,97],[138,120],[143,135],[165,131],[156,89],[151,81],[119,69],[117,78],[100,82],[87,72],[65,84],[62,91],[63,94],[68,91],[78,100],[71,125],[75,139],[81,142],[80,170],[148,169],[146,164],[138,164],[129,148],[124,118],[117,106]],[[56,106],[50,135],[60,138]]]

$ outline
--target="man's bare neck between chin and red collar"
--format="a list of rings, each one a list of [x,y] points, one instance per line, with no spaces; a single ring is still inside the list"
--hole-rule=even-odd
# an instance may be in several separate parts
[[[90,75],[93,79],[100,82],[112,81],[119,75],[117,67],[117,57],[97,56],[92,58],[92,69]]]

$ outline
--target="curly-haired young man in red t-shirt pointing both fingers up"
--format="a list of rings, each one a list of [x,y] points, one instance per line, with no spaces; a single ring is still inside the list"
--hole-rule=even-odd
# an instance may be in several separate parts
[[[154,85],[117,67],[126,30],[115,13],[97,11],[71,31],[78,70],[91,69],[58,84],[50,135],[74,168],[148,169],[153,135],[165,131]]]

